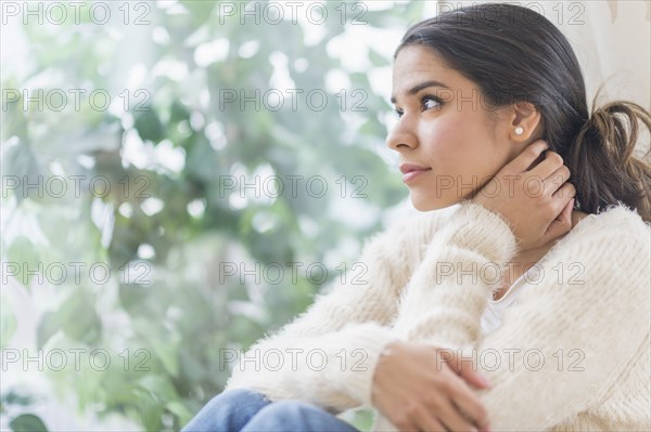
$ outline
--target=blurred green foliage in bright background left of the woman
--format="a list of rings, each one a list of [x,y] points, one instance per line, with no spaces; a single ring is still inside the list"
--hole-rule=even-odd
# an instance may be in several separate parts
[[[66,367],[47,377],[60,397],[75,394],[81,410],[124,414],[158,431],[179,430],[222,390],[229,370],[220,349],[247,348],[304,311],[340,276],[341,263],[355,259],[343,245],[358,239],[358,250],[359,239],[382,227],[382,212],[407,191],[378,152],[384,146],[387,101],[373,94],[369,74],[346,70],[328,48],[352,27],[350,18],[335,18],[343,3],[322,3],[330,18],[320,26],[322,39],[311,45],[301,25],[242,25],[237,16],[220,16],[218,2],[148,4],[149,25],[86,19],[22,27],[31,66],[27,76],[4,73],[3,89],[88,92],[79,109],[72,104],[61,112],[38,109],[34,103],[23,109],[22,100],[8,104],[3,176],[37,183],[39,176],[47,182],[79,175],[81,181],[78,195],[72,188],[61,197],[12,191],[3,199],[10,209],[3,228],[11,235],[2,236],[2,254],[28,269],[87,264],[68,271],[52,290],[35,275],[17,278],[43,305],[37,349],[112,355],[106,370],[81,362],[80,370]],[[354,4],[347,3],[350,12]],[[421,14],[421,2],[398,3],[390,11],[366,11],[362,19],[368,27],[406,28]],[[226,44],[228,52],[210,60]],[[369,71],[391,65],[373,50],[368,60]],[[286,65],[289,87],[303,94],[321,89],[328,105],[308,109],[303,96],[298,109],[289,101],[278,110],[224,104],[230,90],[251,95],[278,88],[279,62]],[[327,82],[337,70],[349,79],[346,109],[343,89],[333,91]],[[111,95],[110,109],[89,103],[98,89]],[[363,110],[353,110],[356,103]],[[240,175],[247,182],[255,175],[321,175],[329,189],[316,198],[299,182],[296,196],[285,191],[277,198],[241,199],[238,188],[224,183]],[[106,194],[90,193],[104,182]],[[332,252],[339,262],[327,259]],[[285,277],[279,285],[220,275],[220,263],[252,269],[291,261],[327,262],[328,280],[315,283],[305,266],[295,283]],[[108,264],[110,283],[93,280],[92,263]],[[46,292],[50,297],[43,299]],[[4,303],[2,348],[16,320],[21,316]],[[38,418],[13,421],[21,430]]]

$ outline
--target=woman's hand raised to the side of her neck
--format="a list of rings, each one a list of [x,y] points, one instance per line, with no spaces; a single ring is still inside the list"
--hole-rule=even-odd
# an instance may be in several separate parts
[[[531,144],[507,163],[471,200],[509,221],[520,250],[536,248],[572,230],[576,189],[570,169],[558,153],[527,169],[548,148],[545,141]]]

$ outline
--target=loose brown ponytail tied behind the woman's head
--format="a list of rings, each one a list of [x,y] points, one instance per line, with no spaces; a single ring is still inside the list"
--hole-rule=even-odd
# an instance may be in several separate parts
[[[582,211],[599,213],[621,201],[651,222],[651,148],[634,155],[640,122],[651,131],[651,114],[640,105],[615,101],[597,108],[595,97],[567,160]]]

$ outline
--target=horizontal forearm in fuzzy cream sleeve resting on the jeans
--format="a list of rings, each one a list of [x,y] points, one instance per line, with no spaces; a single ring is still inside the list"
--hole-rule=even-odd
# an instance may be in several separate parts
[[[250,388],[272,401],[301,398],[333,411],[371,405],[373,372],[383,348],[397,340],[376,323],[309,338],[278,338],[253,345],[226,390]]]

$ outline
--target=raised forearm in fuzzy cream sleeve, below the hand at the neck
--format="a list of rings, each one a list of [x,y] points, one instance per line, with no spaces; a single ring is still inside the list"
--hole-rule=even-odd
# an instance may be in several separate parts
[[[514,251],[515,239],[503,219],[463,202],[436,233],[403,292],[395,323],[398,335],[425,341],[435,331],[439,345],[475,343],[481,331],[477,317]]]

